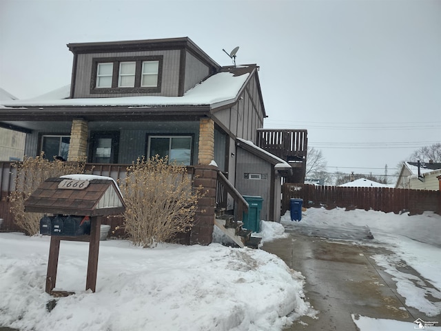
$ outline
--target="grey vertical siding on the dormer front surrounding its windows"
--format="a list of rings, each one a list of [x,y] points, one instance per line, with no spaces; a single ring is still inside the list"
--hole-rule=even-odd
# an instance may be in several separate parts
[[[74,98],[108,98],[108,97],[138,97],[139,93],[90,93],[92,79],[92,63],[94,58],[100,57],[143,57],[163,55],[163,72],[161,92],[148,93],[163,97],[178,96],[180,50],[143,51],[143,52],[110,52],[79,54],[76,61],[76,75],[74,84]],[[147,94],[143,94],[147,95]]]

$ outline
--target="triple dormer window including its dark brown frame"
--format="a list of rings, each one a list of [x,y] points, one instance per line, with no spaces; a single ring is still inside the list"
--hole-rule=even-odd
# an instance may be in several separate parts
[[[161,92],[163,56],[94,58],[91,93]]]

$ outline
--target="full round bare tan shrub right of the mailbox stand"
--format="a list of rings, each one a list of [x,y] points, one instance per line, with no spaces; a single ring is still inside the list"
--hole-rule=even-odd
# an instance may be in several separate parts
[[[185,167],[168,164],[158,155],[138,159],[121,184],[125,232],[135,245],[154,247],[191,230],[203,188],[193,188]]]

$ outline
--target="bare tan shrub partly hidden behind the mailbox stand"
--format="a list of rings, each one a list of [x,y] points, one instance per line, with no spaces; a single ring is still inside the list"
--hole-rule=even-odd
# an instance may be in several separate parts
[[[40,230],[40,219],[43,214],[38,212],[25,212],[25,201],[32,192],[37,190],[41,183],[50,177],[60,177],[64,174],[81,174],[84,172],[85,163],[48,161],[43,158],[43,153],[39,157],[28,157],[22,163],[14,163],[17,167],[17,177],[15,179],[15,191],[11,192],[8,199],[10,201],[10,212],[14,215],[14,221],[25,234],[33,236]]]

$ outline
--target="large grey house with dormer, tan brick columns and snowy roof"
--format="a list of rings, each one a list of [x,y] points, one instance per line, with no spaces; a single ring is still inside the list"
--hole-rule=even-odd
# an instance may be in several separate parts
[[[243,199],[232,189],[240,181],[236,176],[243,176],[238,168],[247,163],[238,146],[240,139],[256,143],[267,117],[258,66],[220,66],[187,37],[68,48],[74,54],[70,86],[36,99],[3,101],[0,125],[25,132],[26,155],[86,158],[94,174],[118,178],[132,161],[155,154],[186,165],[196,174],[195,185],[210,189],[190,241],[209,243],[214,208],[242,210]],[[306,143],[305,130],[301,137]],[[269,170],[258,172],[271,174],[265,192],[278,192],[271,185],[288,172],[279,171],[272,157],[259,158]],[[296,160],[305,159],[301,154]],[[266,199],[266,210],[275,197]],[[267,217],[280,219],[277,212]]]

